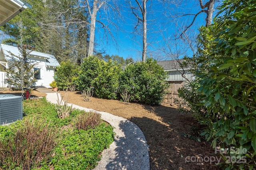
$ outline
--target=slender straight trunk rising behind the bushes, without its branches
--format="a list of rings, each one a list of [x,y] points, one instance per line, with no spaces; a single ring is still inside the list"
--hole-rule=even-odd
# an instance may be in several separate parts
[[[147,10],[146,10],[147,0],[143,0],[143,51],[142,51],[142,61],[146,61],[147,55]]]

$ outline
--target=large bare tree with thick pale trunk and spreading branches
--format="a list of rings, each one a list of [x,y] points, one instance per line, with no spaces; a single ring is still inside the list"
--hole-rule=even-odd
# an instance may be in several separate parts
[[[50,8],[58,8],[58,6],[63,3],[71,4],[72,6],[68,6],[68,8],[59,10],[58,12],[52,14],[49,21],[46,21],[44,24],[50,28],[64,28],[68,29],[72,25],[76,25],[77,30],[87,30],[89,29],[89,42],[88,51],[86,51],[86,57],[93,55],[94,53],[94,39],[95,39],[95,31],[96,31],[96,23],[99,23],[99,28],[103,28],[109,35],[114,39],[112,35],[111,29],[109,27],[109,23],[115,26],[115,23],[111,20],[113,19],[113,14],[118,13],[118,8],[116,7],[115,0],[69,0],[65,2],[60,2],[58,0],[50,0],[52,4],[48,4]],[[78,10],[84,14],[84,18],[81,16],[73,15],[73,11]],[[55,10],[56,11],[56,10]],[[110,15],[110,11],[112,11],[112,15]],[[102,16],[97,17],[98,13],[102,12]],[[67,15],[70,14],[70,15]],[[69,17],[65,17],[69,16]],[[110,18],[111,17],[111,18]],[[87,38],[86,38],[87,39]]]

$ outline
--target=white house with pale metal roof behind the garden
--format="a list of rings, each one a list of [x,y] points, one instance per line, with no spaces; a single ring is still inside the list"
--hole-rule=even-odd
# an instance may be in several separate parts
[[[13,47],[10,45],[1,44],[0,47],[0,65],[8,68],[8,62],[13,61],[11,57],[16,58],[15,56],[11,56],[10,53],[13,53],[15,56],[20,56],[20,51],[17,47]],[[29,53],[29,61],[30,63],[37,63],[34,67],[34,71],[37,71],[34,74],[37,82],[36,86],[45,86],[50,88],[50,83],[54,80],[54,70],[56,66],[60,64],[56,60],[53,55],[40,53],[37,51],[32,51]],[[0,87],[10,86],[6,82],[6,75],[4,72],[0,72]]]

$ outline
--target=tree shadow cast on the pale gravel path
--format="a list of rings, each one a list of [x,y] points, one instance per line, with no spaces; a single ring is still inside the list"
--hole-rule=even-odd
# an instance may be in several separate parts
[[[124,137],[118,137],[115,158],[111,158],[106,170],[149,170],[148,146],[140,129],[130,121],[119,124]],[[132,132],[132,134],[131,134]],[[129,142],[129,143],[128,143]]]

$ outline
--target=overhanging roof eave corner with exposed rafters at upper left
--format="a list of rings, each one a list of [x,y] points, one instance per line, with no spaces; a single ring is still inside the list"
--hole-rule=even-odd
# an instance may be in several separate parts
[[[20,0],[0,0],[0,26],[4,25],[26,8]]]

